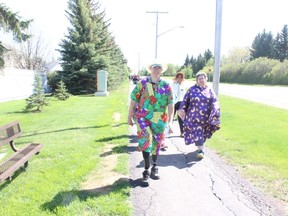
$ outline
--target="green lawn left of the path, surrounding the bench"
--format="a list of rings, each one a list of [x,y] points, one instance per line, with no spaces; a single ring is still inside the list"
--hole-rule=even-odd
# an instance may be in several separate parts
[[[81,189],[91,173],[101,173],[108,144],[118,158],[114,171],[129,172],[127,104],[128,82],[109,97],[51,98],[41,113],[23,112],[24,100],[1,103],[0,124],[17,119],[22,126],[16,144],[40,142],[44,147],[31,158],[27,172],[0,185],[0,215],[130,215],[127,181],[109,185],[108,193]],[[114,113],[121,114],[120,120],[113,119]]]

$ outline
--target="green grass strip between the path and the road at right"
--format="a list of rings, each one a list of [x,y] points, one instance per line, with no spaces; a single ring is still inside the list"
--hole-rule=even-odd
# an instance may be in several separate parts
[[[264,192],[288,202],[288,110],[220,96],[221,129],[207,145]]]

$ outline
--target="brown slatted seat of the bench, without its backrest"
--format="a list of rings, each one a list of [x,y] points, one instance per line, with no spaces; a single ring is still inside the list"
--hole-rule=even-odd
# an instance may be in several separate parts
[[[12,176],[13,173],[18,170],[20,166],[23,166],[30,157],[39,153],[42,147],[43,145],[39,143],[28,144],[2,162],[0,164],[0,183]]]

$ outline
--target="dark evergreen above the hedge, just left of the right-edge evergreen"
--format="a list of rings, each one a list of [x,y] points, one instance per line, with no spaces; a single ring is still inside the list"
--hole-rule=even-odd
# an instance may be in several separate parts
[[[273,48],[273,35],[271,32],[266,32],[265,29],[262,33],[259,33],[252,43],[252,48],[250,49],[251,59],[256,59],[259,57],[273,58],[274,48]]]

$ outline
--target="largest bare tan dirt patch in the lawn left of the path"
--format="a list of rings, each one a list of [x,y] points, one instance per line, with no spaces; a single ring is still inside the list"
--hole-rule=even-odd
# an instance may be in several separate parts
[[[103,155],[105,155],[101,161],[101,169],[93,172],[82,183],[82,189],[92,193],[109,193],[112,191],[113,184],[123,179],[127,179],[127,176],[122,175],[114,171],[114,168],[118,161],[118,154],[112,154],[112,148],[114,145],[107,145],[104,149]]]

